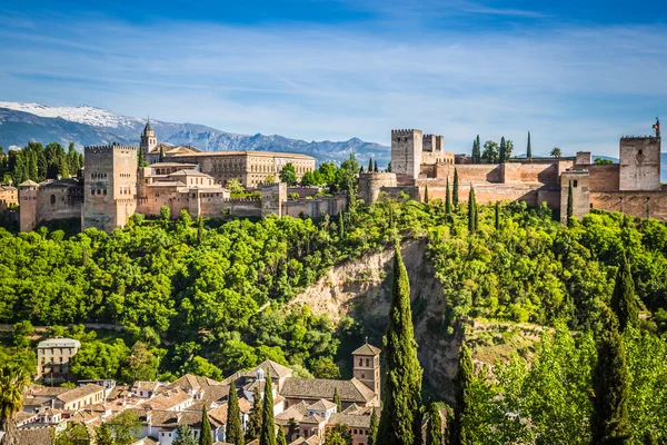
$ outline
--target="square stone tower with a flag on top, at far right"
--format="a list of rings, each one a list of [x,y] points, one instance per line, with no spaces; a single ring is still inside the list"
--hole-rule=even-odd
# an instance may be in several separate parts
[[[620,190],[660,189],[660,138],[620,138]]]

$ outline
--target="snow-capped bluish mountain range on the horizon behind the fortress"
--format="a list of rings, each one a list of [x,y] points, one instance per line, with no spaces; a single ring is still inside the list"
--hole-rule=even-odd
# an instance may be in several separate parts
[[[121,116],[89,106],[48,107],[39,103],[0,101],[0,147],[23,147],[29,141],[42,144],[74,142],[78,148],[113,141],[139,145],[145,119]],[[386,166],[389,147],[365,142],[305,141],[278,135],[236,135],[196,123],[173,123],[151,119],[158,139],[172,145],[191,145],[206,151],[268,150],[295,151],[313,156],[319,161],[340,161],[355,151],[361,162],[369,157]]]

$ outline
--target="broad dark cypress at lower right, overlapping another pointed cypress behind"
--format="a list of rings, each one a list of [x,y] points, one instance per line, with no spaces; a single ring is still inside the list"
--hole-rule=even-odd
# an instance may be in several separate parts
[[[616,316],[608,308],[607,313],[609,322],[607,329],[598,338],[598,362],[593,370],[593,443],[626,445],[630,437],[630,376]]]

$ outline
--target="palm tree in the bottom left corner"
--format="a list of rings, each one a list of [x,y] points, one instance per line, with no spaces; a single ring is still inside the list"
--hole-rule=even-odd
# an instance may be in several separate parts
[[[11,363],[0,365],[0,425],[4,431],[3,444],[18,445],[14,414],[23,408],[23,390],[30,383],[26,368]]]

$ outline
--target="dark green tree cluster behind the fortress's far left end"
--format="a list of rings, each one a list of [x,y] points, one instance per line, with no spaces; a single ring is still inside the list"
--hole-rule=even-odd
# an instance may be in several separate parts
[[[41,182],[46,179],[69,178],[79,175],[83,167],[83,155],[70,144],[66,149],[58,142],[43,147],[40,142],[29,142],[21,150],[4,154],[0,148],[0,184],[19,185],[31,179]]]

